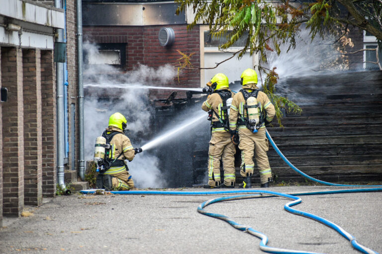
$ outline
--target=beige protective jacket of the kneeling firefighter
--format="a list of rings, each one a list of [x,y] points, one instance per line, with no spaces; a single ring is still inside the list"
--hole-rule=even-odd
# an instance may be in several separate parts
[[[125,136],[125,134],[123,133],[123,130],[114,126],[109,126],[108,128],[106,128],[106,131],[107,133],[110,133],[111,131],[120,132],[116,134],[115,136],[113,136],[113,138],[110,141],[110,145],[112,145],[110,157],[112,159],[115,159],[121,153],[123,153],[123,155],[121,155],[118,158],[118,160],[132,161],[135,156],[135,151],[133,146],[131,145],[130,139],[127,136]],[[105,174],[109,174],[109,175],[117,174],[117,173],[123,172],[124,170],[126,170],[124,166],[111,167],[105,172]]]

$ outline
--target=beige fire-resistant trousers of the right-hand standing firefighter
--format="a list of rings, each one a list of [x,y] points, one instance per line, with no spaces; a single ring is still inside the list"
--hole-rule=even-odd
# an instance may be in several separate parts
[[[253,174],[255,167],[253,155],[255,153],[260,181],[262,184],[268,183],[268,178],[272,177],[272,171],[267,156],[269,143],[265,128],[260,128],[257,133],[253,133],[248,128],[239,128],[238,132],[240,139],[239,149],[241,150],[240,175],[246,177]]]

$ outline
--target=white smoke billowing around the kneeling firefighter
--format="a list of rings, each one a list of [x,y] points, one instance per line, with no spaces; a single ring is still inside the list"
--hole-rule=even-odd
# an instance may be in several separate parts
[[[92,63],[92,59],[100,58],[98,48],[93,44],[84,43],[84,51],[88,63]],[[125,82],[127,85],[144,86],[152,83],[169,83],[177,74],[175,68],[170,64],[157,69],[139,65],[132,71],[122,73],[108,64],[85,64],[84,66],[84,86],[94,81],[103,85],[102,88],[89,86],[85,90],[85,159],[93,160],[95,138],[102,134],[108,126],[110,115],[115,112],[120,112],[126,117],[129,130],[127,136],[132,141],[133,147],[141,146],[142,143],[134,139],[138,133],[145,133],[149,128],[149,91],[147,89],[118,89],[113,84]],[[132,162],[128,162],[128,166],[136,187],[159,188],[166,185],[161,179],[158,159],[148,152],[137,154]]]

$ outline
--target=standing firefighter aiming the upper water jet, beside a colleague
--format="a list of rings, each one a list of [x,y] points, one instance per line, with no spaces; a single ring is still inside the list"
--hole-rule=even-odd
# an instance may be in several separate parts
[[[201,109],[209,112],[211,120],[211,140],[208,149],[208,185],[204,188],[235,187],[235,145],[231,141],[228,115],[234,93],[229,90],[228,77],[223,73],[213,76],[203,91],[211,94],[201,105]],[[220,181],[220,158],[224,168],[224,183]]]

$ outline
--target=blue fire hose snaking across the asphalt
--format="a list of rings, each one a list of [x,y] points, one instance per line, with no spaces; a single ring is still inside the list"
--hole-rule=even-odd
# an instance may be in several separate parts
[[[295,172],[297,172],[298,174],[304,176],[305,178],[313,181],[313,182],[317,182],[317,183],[320,183],[320,184],[323,184],[323,185],[328,185],[328,186],[342,186],[342,187],[366,187],[366,186],[362,186],[362,185],[341,185],[341,184],[333,184],[333,183],[328,183],[328,182],[325,182],[325,181],[321,181],[321,180],[318,180],[318,179],[315,179],[315,178],[312,178],[308,175],[306,175],[305,173],[303,173],[302,171],[298,170],[296,167],[294,167],[287,159],[286,157],[283,155],[283,153],[279,150],[279,148],[277,147],[277,145],[275,144],[275,142],[273,141],[272,137],[269,135],[269,132],[268,130],[266,129],[266,135],[267,135],[267,138],[269,139],[269,141],[271,142],[272,146],[274,147],[274,149],[276,150],[276,152],[280,155],[280,157],[286,162],[286,164],[288,164],[288,166],[290,168],[292,168]],[[377,186],[370,186],[368,185],[367,187],[382,187],[380,185],[377,185]],[[214,218],[217,218],[217,219],[221,219],[223,221],[226,221],[227,223],[229,223],[231,226],[233,226],[234,228],[240,230],[240,231],[243,231],[243,232],[247,232],[253,236],[256,236],[257,238],[261,239],[261,242],[260,242],[260,249],[264,252],[267,252],[267,253],[275,253],[275,254],[317,254],[317,253],[314,253],[314,252],[306,252],[306,251],[296,251],[296,250],[287,250],[287,249],[281,249],[281,248],[276,248],[276,247],[270,247],[267,245],[268,243],[268,237],[259,232],[259,231],[256,231],[255,229],[251,228],[251,227],[246,227],[246,226],[243,226],[243,225],[240,225],[238,223],[236,223],[235,221],[233,221],[231,218],[225,216],[225,215],[222,215],[222,214],[218,214],[218,213],[211,213],[211,212],[208,212],[206,210],[204,210],[204,207],[206,207],[207,205],[210,205],[210,204],[213,204],[213,203],[217,203],[217,202],[222,202],[222,201],[231,201],[231,200],[239,200],[239,199],[248,199],[248,198],[257,198],[257,197],[265,197],[265,196],[280,196],[280,197],[285,197],[287,199],[291,199],[292,201],[286,203],[286,205],[284,206],[284,209],[290,213],[293,213],[293,214],[296,214],[296,215],[300,215],[300,216],[304,216],[304,217],[307,217],[307,218],[310,218],[310,219],[314,219],[318,222],[321,222],[322,224],[334,229],[335,231],[337,231],[341,236],[343,236],[345,239],[347,239],[353,246],[354,249],[356,249],[357,251],[360,251],[362,253],[366,253],[366,254],[378,254],[377,252],[359,244],[355,237],[353,237],[350,233],[346,232],[344,229],[342,229],[340,226],[336,225],[335,223],[333,222],[330,222],[324,218],[321,218],[317,215],[314,215],[314,214],[311,214],[311,213],[308,213],[308,212],[304,212],[304,211],[299,211],[299,210],[296,210],[294,208],[291,208],[292,206],[294,205],[297,205],[299,203],[301,203],[301,198],[300,197],[297,197],[297,196],[300,196],[300,195],[318,195],[318,194],[335,194],[335,193],[354,193],[354,192],[373,192],[373,191],[382,191],[382,188],[365,188],[365,189],[351,189],[351,190],[335,190],[335,191],[311,191],[311,192],[301,192],[301,193],[293,193],[293,194],[286,194],[286,193],[281,193],[281,192],[276,192],[276,191],[259,191],[259,190],[234,190],[234,191],[110,191],[110,193],[113,193],[113,194],[128,194],[128,195],[141,195],[141,194],[145,194],[145,195],[148,195],[148,194],[154,194],[154,195],[212,195],[212,194],[238,194],[238,193],[250,193],[250,194],[246,194],[246,195],[235,195],[235,196],[224,196],[224,197],[218,197],[218,198],[214,198],[214,199],[211,199],[211,200],[207,200],[203,203],[201,203],[198,208],[197,208],[197,211],[201,214],[204,214],[204,215],[207,215],[207,216],[210,216],[210,217],[214,217]],[[84,191],[80,191],[82,192],[83,194],[89,194],[89,193],[95,193],[95,190],[84,190]]]

